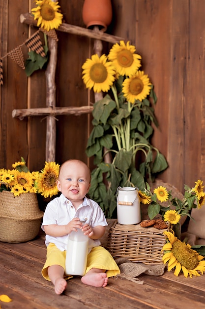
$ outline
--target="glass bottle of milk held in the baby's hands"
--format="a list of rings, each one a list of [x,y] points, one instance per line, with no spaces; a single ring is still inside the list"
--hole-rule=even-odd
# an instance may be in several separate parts
[[[83,225],[85,221],[81,221]],[[81,229],[72,231],[68,236],[67,252],[65,258],[65,273],[83,276],[86,272],[88,259],[88,235]]]

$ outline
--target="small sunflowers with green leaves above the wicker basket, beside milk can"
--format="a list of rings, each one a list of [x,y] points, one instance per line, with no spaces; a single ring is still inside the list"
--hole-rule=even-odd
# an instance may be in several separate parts
[[[140,202],[148,205],[148,216],[150,219],[160,215],[164,221],[170,222],[171,225],[179,223],[181,216],[190,216],[192,208],[201,208],[205,204],[205,192],[203,181],[198,180],[195,182],[193,188],[184,186],[184,198],[180,200],[172,196],[171,191],[163,186],[159,186],[150,191],[150,186],[146,183],[144,190],[139,190]]]

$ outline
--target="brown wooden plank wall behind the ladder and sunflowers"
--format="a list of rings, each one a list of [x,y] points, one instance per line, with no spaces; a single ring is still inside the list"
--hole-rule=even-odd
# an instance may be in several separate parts
[[[85,27],[84,0],[59,0],[64,22]],[[142,56],[142,69],[150,77],[158,97],[153,145],[163,153],[169,168],[160,175],[183,191],[205,180],[205,1],[112,0],[113,21],[107,33],[130,40]],[[32,0],[0,0],[0,51],[4,56],[37,29],[20,23]],[[93,53],[93,40],[58,33],[56,73],[57,106],[84,106],[93,102],[82,81],[81,66]],[[109,43],[103,43],[107,53]],[[25,59],[28,49],[23,46]],[[3,58],[4,84],[0,89],[0,167],[10,168],[24,156],[31,170],[43,168],[46,119],[19,120],[13,109],[46,106],[45,71],[27,77],[13,60]],[[90,97],[89,97],[90,96]],[[79,158],[90,163],[85,149],[91,115],[58,116],[56,161]]]

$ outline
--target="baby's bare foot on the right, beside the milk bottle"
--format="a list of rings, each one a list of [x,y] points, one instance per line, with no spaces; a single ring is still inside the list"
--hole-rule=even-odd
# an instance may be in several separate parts
[[[87,272],[81,281],[87,285],[104,288],[108,284],[108,277],[105,272]]]

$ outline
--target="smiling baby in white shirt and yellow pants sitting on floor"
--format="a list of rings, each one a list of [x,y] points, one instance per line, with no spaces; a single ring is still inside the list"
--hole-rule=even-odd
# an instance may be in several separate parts
[[[42,223],[46,233],[47,259],[42,270],[45,279],[52,281],[56,294],[61,294],[67,285],[65,257],[69,233],[82,229],[89,237],[86,274],[81,281],[95,287],[105,287],[108,277],[117,275],[120,270],[111,254],[100,246],[108,225],[100,206],[86,197],[90,187],[90,170],[80,160],[67,160],[59,170],[57,187],[59,197],[48,203]],[[82,226],[80,219],[86,218]],[[99,267],[100,265],[100,267]]]

